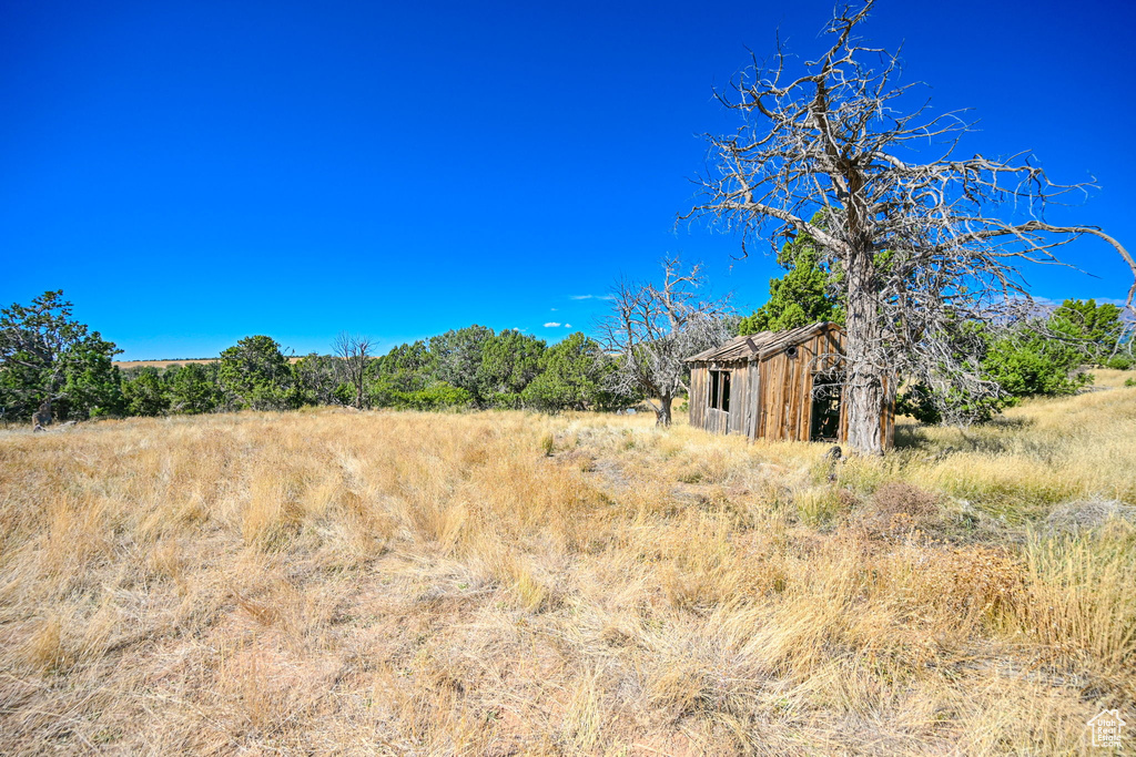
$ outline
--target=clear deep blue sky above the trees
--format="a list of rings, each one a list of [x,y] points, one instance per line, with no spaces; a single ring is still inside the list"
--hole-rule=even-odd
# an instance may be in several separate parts
[[[777,275],[736,239],[675,229],[711,100],[778,26],[817,49],[832,2],[0,2],[0,304],[62,288],[124,359],[214,355],[268,334],[382,344],[474,322],[550,340],[620,274],[707,262],[750,308]],[[1033,150],[1101,190],[1055,220],[1136,249],[1136,3],[882,0],[969,149]],[[1122,297],[1030,272],[1039,296]],[[582,298],[593,295],[592,298]],[[575,297],[575,298],[574,298]],[[556,310],[553,310],[556,309]]]

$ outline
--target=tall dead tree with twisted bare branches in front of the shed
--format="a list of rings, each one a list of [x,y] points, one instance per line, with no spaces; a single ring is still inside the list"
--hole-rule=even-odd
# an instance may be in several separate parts
[[[716,93],[743,123],[708,135],[713,168],[696,179],[705,199],[682,218],[740,232],[743,254],[762,235],[775,251],[803,232],[822,245],[846,296],[849,444],[879,454],[896,375],[980,388],[974,361],[944,337],[1028,298],[1021,263],[1059,263],[1055,249],[1085,236],[1111,244],[1134,275],[1136,261],[1099,228],[1045,220],[1049,205],[1091,184],[1055,184],[1027,153],[958,157],[972,125],[912,106],[916,84],[899,83],[896,53],[853,35],[872,6],[838,8],[816,60],[794,68],[778,43],[771,62],[754,57]],[[929,160],[920,143],[935,151]],[[810,222],[818,210],[825,222]],[[1136,284],[1129,308],[1134,295]]]

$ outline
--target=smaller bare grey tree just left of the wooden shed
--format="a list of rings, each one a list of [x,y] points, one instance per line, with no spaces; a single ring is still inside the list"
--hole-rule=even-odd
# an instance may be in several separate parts
[[[678,259],[662,262],[662,285],[620,279],[611,289],[611,312],[599,322],[605,347],[618,353],[612,388],[645,394],[659,426],[670,426],[671,404],[686,389],[683,359],[730,336],[728,298],[701,300],[701,266],[683,272]]]

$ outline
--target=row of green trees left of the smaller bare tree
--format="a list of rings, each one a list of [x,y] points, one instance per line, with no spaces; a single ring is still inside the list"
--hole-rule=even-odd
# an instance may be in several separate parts
[[[44,406],[57,420],[295,410],[309,405],[409,410],[613,411],[641,399],[612,380],[616,355],[583,333],[543,339],[484,326],[454,329],[385,354],[342,334],[333,354],[298,360],[264,335],[216,361],[120,369],[122,351],[73,316],[62,292],[0,311],[0,420]]]

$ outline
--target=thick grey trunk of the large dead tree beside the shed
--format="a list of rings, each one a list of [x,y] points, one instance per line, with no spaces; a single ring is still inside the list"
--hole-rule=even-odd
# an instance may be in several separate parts
[[[854,454],[862,455],[884,454],[884,365],[879,359],[882,333],[872,269],[870,252],[862,250],[850,255],[844,402],[849,446]]]

